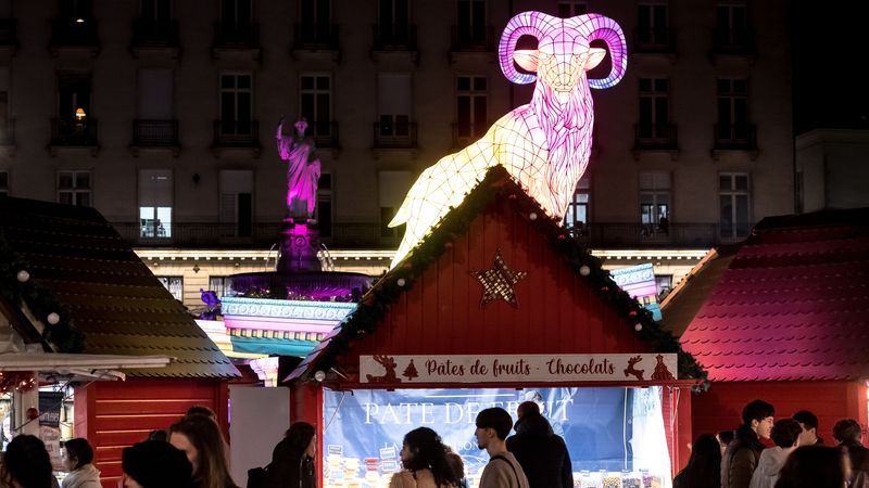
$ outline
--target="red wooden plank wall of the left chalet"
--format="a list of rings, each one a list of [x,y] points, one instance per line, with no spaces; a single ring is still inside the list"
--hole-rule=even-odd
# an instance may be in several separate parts
[[[86,437],[106,488],[121,478],[121,452],[167,428],[192,406],[209,407],[227,432],[228,388],[219,380],[138,380],[93,382],[75,389],[75,435]]]

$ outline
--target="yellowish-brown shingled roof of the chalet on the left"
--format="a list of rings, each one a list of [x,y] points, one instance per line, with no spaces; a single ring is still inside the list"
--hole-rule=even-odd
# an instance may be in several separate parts
[[[41,322],[46,349],[174,358],[166,368],[125,370],[130,377],[240,376],[92,208],[0,197],[0,305],[12,319]]]

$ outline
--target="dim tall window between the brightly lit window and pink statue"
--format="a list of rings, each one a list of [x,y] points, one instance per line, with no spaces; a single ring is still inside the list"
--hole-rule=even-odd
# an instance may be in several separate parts
[[[221,170],[221,232],[250,237],[253,230],[253,171]]]

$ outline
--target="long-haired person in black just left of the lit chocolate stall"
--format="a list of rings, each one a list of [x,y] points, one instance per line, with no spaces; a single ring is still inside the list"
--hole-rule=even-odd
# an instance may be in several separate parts
[[[316,455],[317,435],[314,426],[307,422],[293,423],[272,452],[265,487],[315,488]]]

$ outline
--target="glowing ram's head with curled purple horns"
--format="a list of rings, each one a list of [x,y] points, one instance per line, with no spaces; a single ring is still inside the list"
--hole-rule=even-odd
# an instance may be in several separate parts
[[[521,36],[537,38],[538,48],[517,50],[516,42]],[[608,46],[613,68],[606,78],[590,79],[589,86],[609,88],[625,76],[628,64],[625,35],[615,21],[597,14],[558,18],[540,12],[522,12],[514,16],[501,36],[501,69],[515,84],[530,84],[540,78],[564,102],[584,72],[597,66],[606,55],[606,50],[589,46],[596,39]],[[519,73],[514,61],[522,69],[536,74]]]

